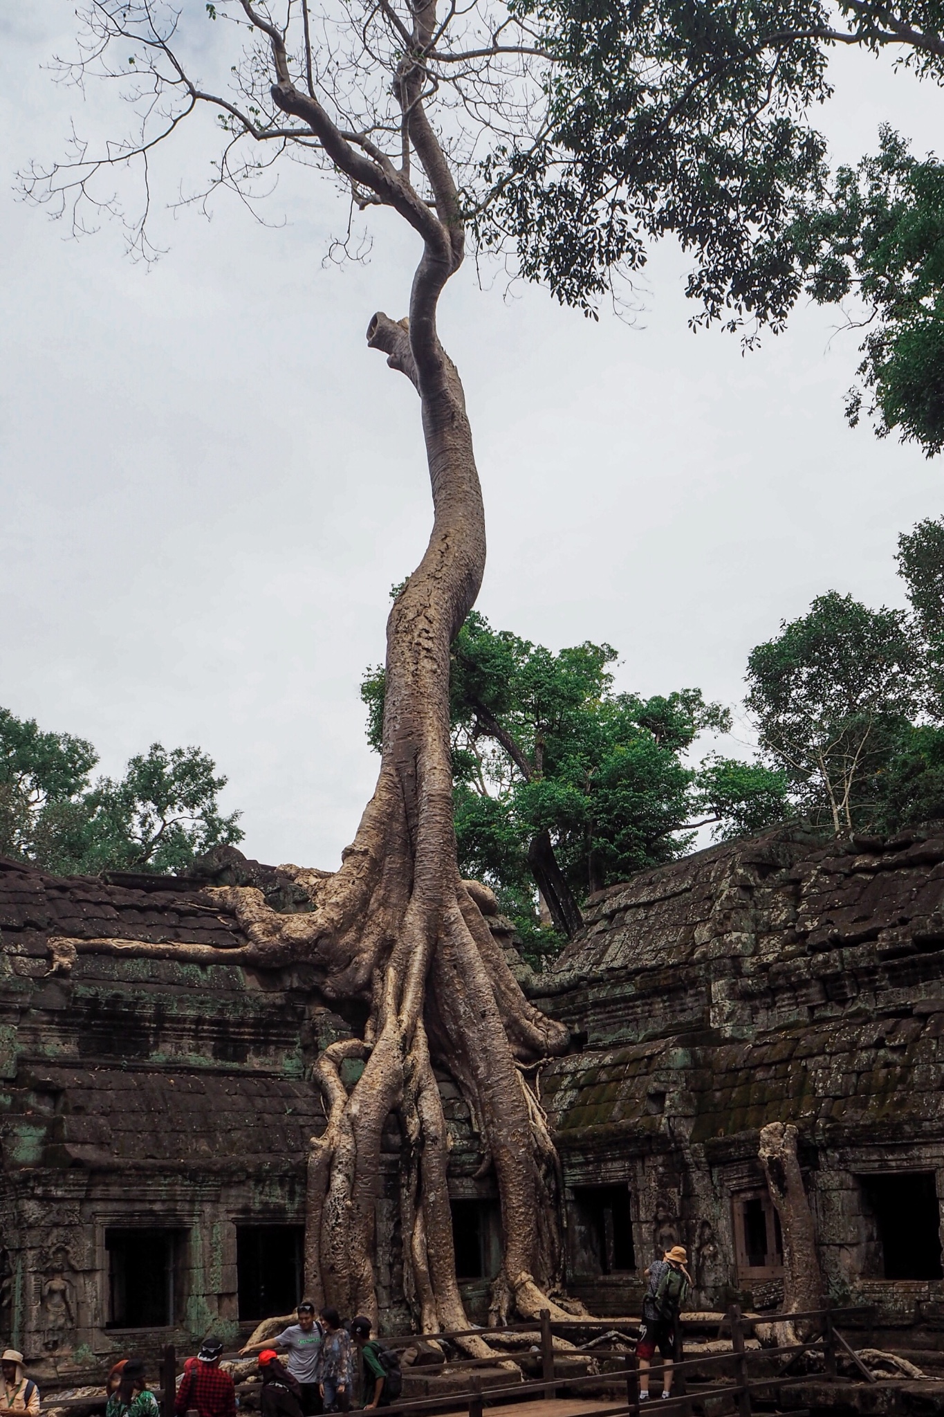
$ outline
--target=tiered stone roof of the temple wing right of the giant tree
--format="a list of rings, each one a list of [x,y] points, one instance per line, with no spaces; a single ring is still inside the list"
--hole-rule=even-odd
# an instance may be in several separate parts
[[[583,1044],[542,1077],[565,1148],[940,1135],[944,837],[770,833],[643,873],[532,995]]]

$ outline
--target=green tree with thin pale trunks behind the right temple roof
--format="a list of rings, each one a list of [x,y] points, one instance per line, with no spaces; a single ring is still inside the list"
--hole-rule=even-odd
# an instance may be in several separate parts
[[[900,536],[897,564],[910,612],[831,591],[749,659],[761,751],[834,832],[944,819],[944,519]]]

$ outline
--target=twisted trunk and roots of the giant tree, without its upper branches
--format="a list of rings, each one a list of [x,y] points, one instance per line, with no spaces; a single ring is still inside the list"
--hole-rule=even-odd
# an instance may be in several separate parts
[[[560,1271],[556,1158],[518,1064],[568,1046],[566,1029],[526,1002],[495,945],[483,915],[494,910],[490,893],[463,881],[456,862],[449,646],[481,582],[485,533],[461,384],[427,309],[439,275],[427,252],[410,320],[376,315],[368,330],[368,343],[419,391],[434,510],[426,554],[388,621],[376,791],[340,871],[299,873],[311,914],[277,915],[255,890],[215,893],[235,908],[260,962],[301,955],[318,966],[328,998],[369,1002],[364,1037],[331,1044],[316,1067],[327,1128],[309,1158],[306,1287],[344,1314],[376,1316],[374,1210],[393,1112],[406,1144],[406,1287],[425,1332],[467,1326],[430,1047],[459,1081],[498,1182],[505,1246],[494,1311],[534,1315]],[[352,1057],[364,1071],[348,1090],[340,1066]]]

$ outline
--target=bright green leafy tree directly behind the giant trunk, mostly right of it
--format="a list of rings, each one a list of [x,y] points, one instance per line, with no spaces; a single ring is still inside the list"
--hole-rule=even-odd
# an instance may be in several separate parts
[[[617,694],[616,657],[589,640],[555,655],[493,631],[477,611],[453,642],[459,862],[493,887],[531,962],[573,937],[589,894],[679,856],[695,828],[759,830],[790,811],[776,769],[718,755],[688,762],[699,734],[730,728],[726,708],[698,689]],[[384,690],[384,669],[368,670],[361,694],[378,750]]]

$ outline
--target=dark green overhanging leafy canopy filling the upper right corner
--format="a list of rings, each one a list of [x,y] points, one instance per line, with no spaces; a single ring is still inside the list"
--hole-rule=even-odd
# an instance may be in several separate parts
[[[817,111],[838,47],[892,50],[944,77],[934,0],[517,0],[548,55],[538,135],[481,163],[477,228],[522,272],[587,313],[618,269],[678,238],[693,326],[749,340],[783,329],[801,296],[858,298],[868,333],[855,424],[869,400],[930,455],[944,439],[944,170],[889,128],[877,156],[831,174]],[[856,322],[853,322],[856,323]]]

